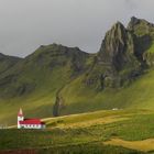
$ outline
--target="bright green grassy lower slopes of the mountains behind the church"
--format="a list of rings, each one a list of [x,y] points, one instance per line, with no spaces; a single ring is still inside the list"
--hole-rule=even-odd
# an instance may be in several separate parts
[[[150,50],[152,53],[153,46]],[[18,82],[13,82],[10,88],[12,91],[23,82],[36,84],[35,90],[28,95],[0,99],[0,124],[12,125],[16,123],[16,113],[20,108],[23,108],[26,118],[47,118],[53,117],[53,106],[56,100],[57,91],[63,99],[63,106],[59,109],[61,116],[82,113],[97,110],[108,110],[113,108],[119,109],[154,109],[154,69],[147,69],[146,73],[140,76],[136,80],[125,85],[119,89],[107,88],[102,91],[97,91],[94,87],[88,87],[84,84],[85,75],[80,75],[72,80],[70,65],[65,67],[56,66],[54,69],[40,66],[33,61],[25,61],[26,65],[22,64],[12,68],[19,69],[25,67],[20,74]],[[45,55],[47,61],[44,62],[48,66],[48,55]],[[58,61],[64,61],[61,57]],[[55,59],[53,59],[56,62]],[[32,63],[33,62],[33,63]],[[31,64],[32,63],[32,64]],[[86,65],[90,65],[91,58],[88,58]],[[41,65],[41,64],[40,64]],[[18,68],[16,68],[18,67]],[[36,78],[38,76],[38,78]],[[72,80],[72,81],[70,81]],[[33,85],[33,84],[32,84]],[[1,88],[1,91],[4,91]],[[7,92],[7,91],[6,91]],[[10,94],[8,91],[8,94]]]

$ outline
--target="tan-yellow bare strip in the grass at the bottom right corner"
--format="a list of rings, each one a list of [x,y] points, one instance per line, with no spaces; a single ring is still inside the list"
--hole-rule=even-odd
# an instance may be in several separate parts
[[[103,142],[105,145],[117,145],[127,148],[148,152],[154,151],[154,139],[147,139],[143,141],[124,141],[121,139],[111,139],[110,141]]]

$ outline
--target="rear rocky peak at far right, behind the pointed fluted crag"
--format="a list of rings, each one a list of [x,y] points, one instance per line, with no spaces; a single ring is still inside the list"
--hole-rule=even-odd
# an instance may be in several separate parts
[[[132,16],[128,30],[134,35],[135,55],[143,64],[153,66],[154,24]]]

